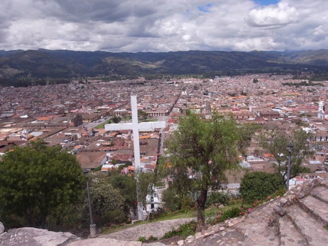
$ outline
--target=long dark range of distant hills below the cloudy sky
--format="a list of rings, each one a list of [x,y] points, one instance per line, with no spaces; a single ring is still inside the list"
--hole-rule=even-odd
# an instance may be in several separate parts
[[[177,51],[112,53],[105,51],[0,51],[0,82],[22,77],[72,78],[105,75],[216,74],[220,71],[270,72],[328,69],[328,50]]]

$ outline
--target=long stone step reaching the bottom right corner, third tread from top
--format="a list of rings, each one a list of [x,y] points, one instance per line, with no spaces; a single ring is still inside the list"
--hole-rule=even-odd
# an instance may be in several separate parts
[[[310,246],[328,245],[328,230],[321,223],[302,210],[297,204],[285,208],[289,219],[303,235]]]

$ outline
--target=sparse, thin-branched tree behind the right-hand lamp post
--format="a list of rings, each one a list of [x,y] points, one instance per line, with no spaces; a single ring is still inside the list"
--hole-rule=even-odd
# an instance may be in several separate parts
[[[286,173],[288,169],[288,144],[294,145],[291,158],[291,175],[294,178],[300,173],[311,172],[308,168],[302,166],[302,162],[306,157],[313,155],[314,146],[311,145],[313,134],[301,129],[292,131],[291,134],[286,134],[279,130],[271,130],[263,132],[259,137],[259,144],[263,150],[269,151],[275,158],[277,172],[284,177],[286,182]]]

